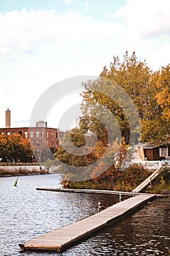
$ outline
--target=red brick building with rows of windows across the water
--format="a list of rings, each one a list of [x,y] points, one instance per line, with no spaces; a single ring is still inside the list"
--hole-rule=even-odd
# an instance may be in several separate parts
[[[37,122],[36,127],[0,128],[1,135],[16,133],[20,134],[23,139],[30,140],[33,146],[33,158],[39,162],[45,162],[50,156],[50,151],[55,153],[59,147],[58,129],[47,127],[47,123],[43,121]]]

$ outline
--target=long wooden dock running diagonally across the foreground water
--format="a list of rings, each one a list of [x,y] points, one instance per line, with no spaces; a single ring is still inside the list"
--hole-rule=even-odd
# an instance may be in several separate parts
[[[107,225],[118,222],[127,214],[132,214],[137,208],[143,206],[155,197],[156,195],[137,195],[136,197],[128,198],[127,200],[100,211],[98,214],[94,214],[93,216],[81,219],[78,222],[53,230],[27,241],[25,244],[20,244],[20,248],[22,251],[48,250],[62,252],[70,246],[87,239],[92,236],[93,233],[107,227]]]

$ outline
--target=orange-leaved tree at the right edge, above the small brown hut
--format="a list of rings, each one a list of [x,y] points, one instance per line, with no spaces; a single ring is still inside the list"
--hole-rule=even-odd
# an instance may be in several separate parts
[[[162,143],[169,140],[170,135],[170,65],[152,74],[150,91],[146,118],[142,120],[142,140]]]

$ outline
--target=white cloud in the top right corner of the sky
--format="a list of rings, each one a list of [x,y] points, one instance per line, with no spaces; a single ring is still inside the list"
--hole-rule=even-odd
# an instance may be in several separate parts
[[[128,0],[113,15],[142,38],[170,34],[169,0]]]

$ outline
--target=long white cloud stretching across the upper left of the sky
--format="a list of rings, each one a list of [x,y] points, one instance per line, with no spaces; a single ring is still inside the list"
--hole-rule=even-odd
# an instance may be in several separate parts
[[[77,12],[17,10],[0,15],[0,54],[34,53],[66,40],[109,37],[122,31],[120,23],[98,22]]]

